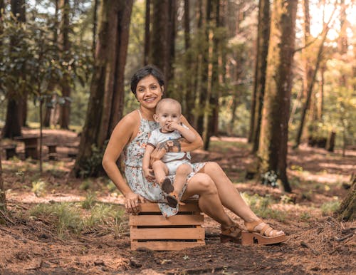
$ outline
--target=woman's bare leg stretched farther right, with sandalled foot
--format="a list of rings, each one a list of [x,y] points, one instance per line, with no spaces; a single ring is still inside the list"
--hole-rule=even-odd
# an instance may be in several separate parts
[[[256,222],[259,220],[256,214],[253,213],[251,208],[248,207],[244,199],[241,197],[241,194],[236,187],[234,187],[229,177],[227,177],[225,172],[221,169],[220,165],[216,162],[208,162],[199,172],[204,172],[214,181],[219,193],[219,198],[224,207],[230,209],[236,215],[244,219],[245,222]],[[263,229],[265,225],[264,222],[261,222],[255,227],[256,231]],[[273,232],[270,233],[271,235],[283,234],[283,231],[277,232],[276,230],[273,230]]]

